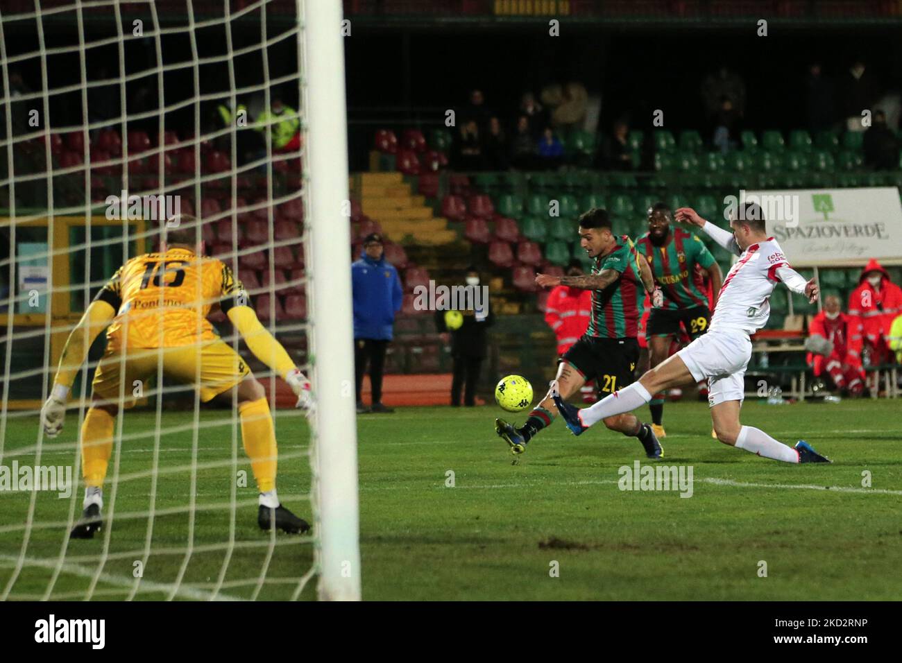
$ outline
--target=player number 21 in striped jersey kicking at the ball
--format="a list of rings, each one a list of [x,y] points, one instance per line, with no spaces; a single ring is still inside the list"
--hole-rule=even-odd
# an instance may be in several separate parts
[[[514,454],[526,450],[526,444],[539,430],[548,427],[557,416],[552,398],[559,393],[569,398],[585,382],[594,380],[599,391],[613,393],[633,382],[639,361],[639,317],[641,298],[654,290],[649,263],[640,258],[627,235],[614,235],[611,220],[603,209],[593,208],[579,217],[580,245],[594,259],[591,274],[549,276],[538,274],[536,283],[543,288],[566,285],[592,290],[592,314],[589,327],[576,343],[558,359],[557,378],[548,395],[529,412],[520,428],[503,419],[495,419],[495,432]],[[649,458],[663,456],[654,431],[633,415],[604,419],[604,425],[623,435],[639,437]]]

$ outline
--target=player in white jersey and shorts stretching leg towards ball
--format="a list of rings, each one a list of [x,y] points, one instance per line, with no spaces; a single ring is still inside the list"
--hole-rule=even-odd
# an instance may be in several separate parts
[[[740,423],[745,395],[743,377],[751,357],[749,336],[767,324],[768,299],[774,287],[782,282],[812,302],[818,296],[814,279],[805,281],[793,270],[779,244],[767,235],[761,208],[745,203],[740,211],[739,218],[731,218],[730,233],[708,223],[690,207],[676,210],[677,221],[698,226],[717,244],[740,256],[723,280],[711,327],[707,334],[642,375],[639,382],[612,393],[590,408],[579,410],[556,396],[557,410],[574,435],[580,435],[597,421],[639,408],[651,400],[653,393],[706,378],[714,432],[721,442],[786,463],[830,462],[805,440],[799,440],[796,447],[788,447],[763,430]]]

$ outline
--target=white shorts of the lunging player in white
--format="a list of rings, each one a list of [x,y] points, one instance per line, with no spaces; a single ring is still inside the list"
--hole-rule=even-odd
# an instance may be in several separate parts
[[[751,358],[751,340],[742,332],[708,332],[676,355],[695,382],[707,379],[708,407],[745,398],[745,369]]]

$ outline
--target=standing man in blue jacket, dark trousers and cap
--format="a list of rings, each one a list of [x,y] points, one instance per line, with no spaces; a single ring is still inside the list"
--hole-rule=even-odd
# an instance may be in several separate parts
[[[357,413],[391,412],[382,405],[382,367],[385,349],[391,341],[395,313],[400,310],[404,291],[394,265],[382,256],[382,235],[371,233],[364,239],[364,253],[351,265],[354,292],[354,369]],[[367,408],[361,398],[366,364],[370,364],[373,405]]]

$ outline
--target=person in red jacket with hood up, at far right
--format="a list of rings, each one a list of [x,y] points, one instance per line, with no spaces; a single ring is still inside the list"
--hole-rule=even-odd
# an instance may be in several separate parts
[[[889,327],[902,313],[902,288],[874,259],[861,270],[859,286],[849,296],[852,351],[861,363],[886,364],[891,356],[887,345]],[[866,361],[867,360],[867,361]]]

